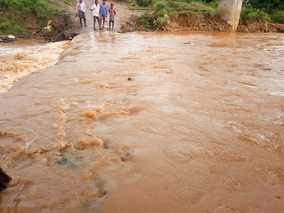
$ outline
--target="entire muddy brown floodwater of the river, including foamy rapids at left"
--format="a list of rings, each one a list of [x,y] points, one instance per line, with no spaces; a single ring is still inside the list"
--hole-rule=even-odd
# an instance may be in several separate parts
[[[0,49],[0,212],[284,212],[284,34]]]

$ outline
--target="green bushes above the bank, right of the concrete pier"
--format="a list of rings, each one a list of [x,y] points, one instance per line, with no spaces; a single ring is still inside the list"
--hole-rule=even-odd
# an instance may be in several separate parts
[[[284,24],[284,1],[244,0],[240,20],[263,17],[272,23]]]

